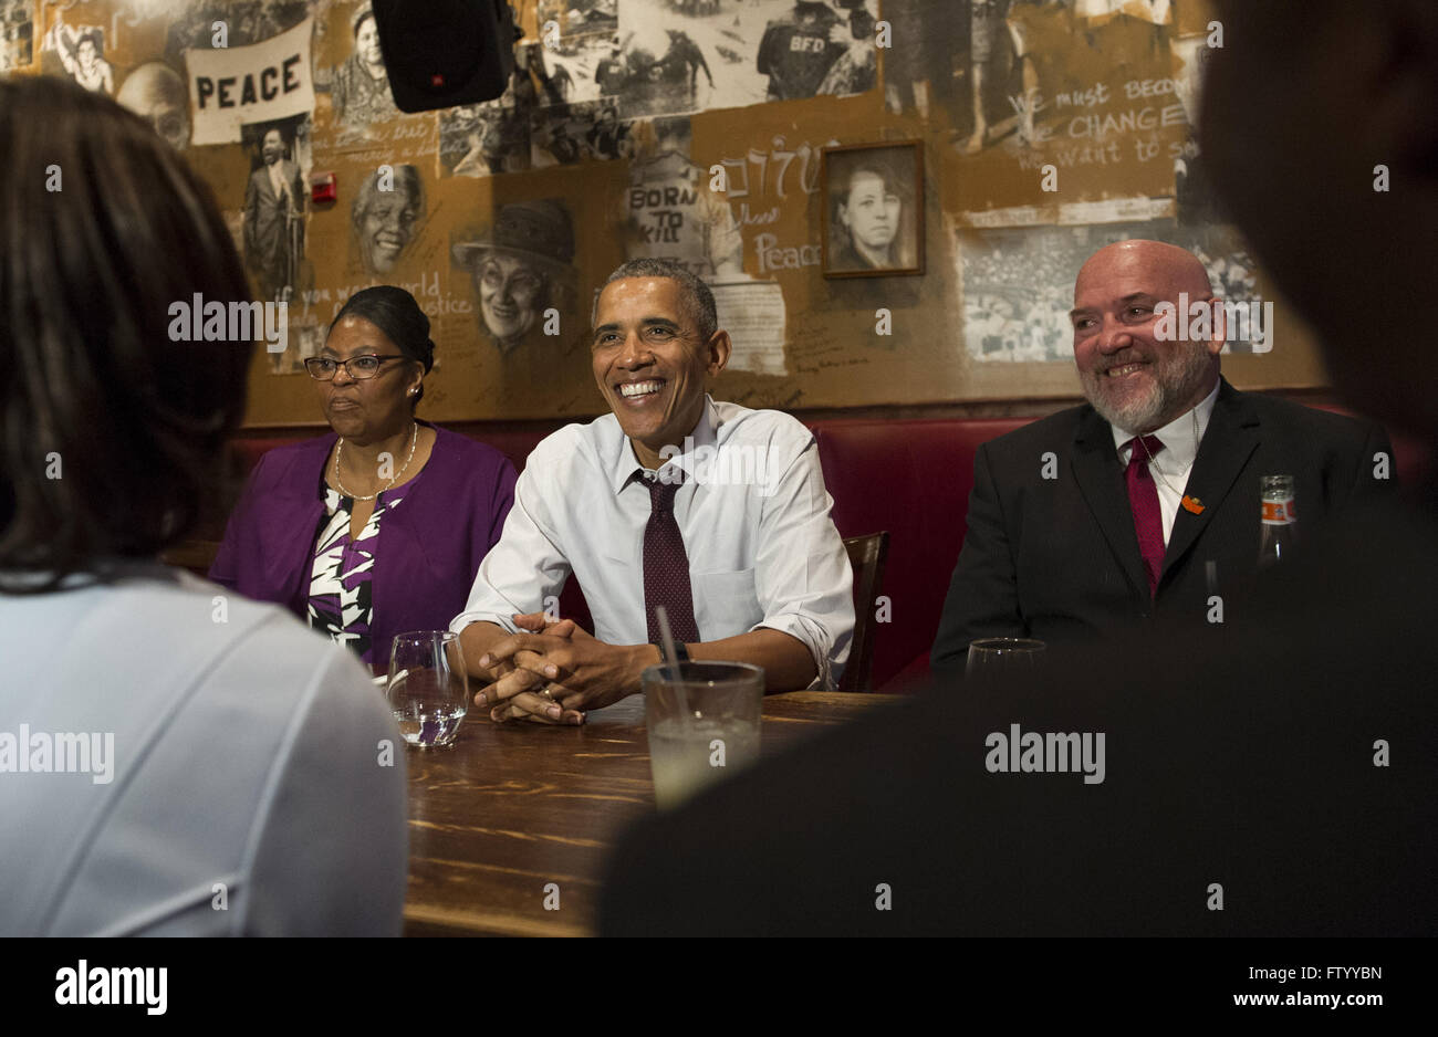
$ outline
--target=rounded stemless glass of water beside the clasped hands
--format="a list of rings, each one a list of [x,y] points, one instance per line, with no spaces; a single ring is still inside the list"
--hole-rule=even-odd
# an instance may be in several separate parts
[[[450,631],[394,635],[384,694],[410,745],[453,744],[469,710],[469,678],[459,635]]]

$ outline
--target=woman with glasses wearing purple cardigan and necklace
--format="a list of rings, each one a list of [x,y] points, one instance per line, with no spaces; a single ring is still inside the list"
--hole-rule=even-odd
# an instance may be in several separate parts
[[[443,631],[464,610],[515,498],[503,454],[414,418],[429,332],[404,289],[349,297],[305,361],[334,432],[260,458],[210,567],[372,666],[388,665],[395,633]]]

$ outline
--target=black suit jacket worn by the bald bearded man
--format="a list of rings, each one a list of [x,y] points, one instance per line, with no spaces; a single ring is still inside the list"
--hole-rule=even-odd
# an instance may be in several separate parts
[[[1373,477],[1380,451],[1389,458],[1386,480]],[[1045,454],[1057,461],[1057,478],[1044,478]],[[1211,593],[1224,597],[1225,622],[1234,622],[1231,592],[1257,567],[1263,475],[1294,477],[1299,534],[1309,537],[1396,485],[1392,447],[1378,425],[1222,381],[1185,490],[1204,511],[1179,508],[1150,596],[1107,421],[1084,404],[984,444],[933,666],[962,664],[976,638],[1060,643],[1156,618],[1202,626]]]

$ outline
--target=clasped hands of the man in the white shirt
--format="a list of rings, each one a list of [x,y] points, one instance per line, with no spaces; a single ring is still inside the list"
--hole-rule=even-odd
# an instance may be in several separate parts
[[[587,711],[638,691],[638,674],[653,662],[650,645],[610,645],[572,619],[532,612],[516,615],[515,625],[521,632],[495,643],[477,664],[490,682],[475,705],[489,707],[496,724],[582,724]]]

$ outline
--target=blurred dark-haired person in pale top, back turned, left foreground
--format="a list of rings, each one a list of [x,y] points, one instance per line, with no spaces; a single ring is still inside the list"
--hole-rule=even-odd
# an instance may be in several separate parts
[[[35,171],[0,182],[29,246],[0,253],[0,935],[398,935],[383,697],[278,606],[155,562],[244,411],[253,342],[171,333],[177,303],[249,299],[210,192],[52,78],[0,82],[0,152]]]

